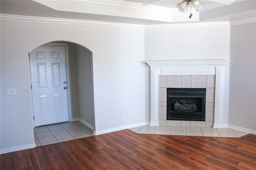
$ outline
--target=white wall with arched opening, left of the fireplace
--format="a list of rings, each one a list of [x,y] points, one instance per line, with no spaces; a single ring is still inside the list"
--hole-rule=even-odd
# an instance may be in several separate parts
[[[145,122],[143,29],[4,20],[0,26],[1,150],[34,143],[28,53],[51,41],[93,53],[96,132]],[[5,96],[6,88],[16,88],[16,95]]]

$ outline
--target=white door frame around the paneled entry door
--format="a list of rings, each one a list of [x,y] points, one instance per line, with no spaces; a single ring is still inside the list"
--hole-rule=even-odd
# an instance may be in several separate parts
[[[68,43],[45,43],[40,46],[65,46],[65,55],[66,55],[66,76],[67,76],[67,92],[68,92],[68,115],[69,115],[69,121],[72,121],[72,105],[71,105],[71,83],[70,83],[70,75],[69,75],[69,58],[68,58]],[[39,47],[39,46],[38,46]],[[34,50],[34,49],[32,49]],[[32,51],[31,50],[31,51]],[[30,59],[28,61],[29,63],[29,74],[30,74],[30,84],[31,84],[31,70],[30,70]],[[34,121],[34,105],[33,105],[33,96],[32,96],[32,89],[30,88],[30,98],[31,98],[31,111],[32,111],[32,122],[33,127],[35,127],[35,121]]]

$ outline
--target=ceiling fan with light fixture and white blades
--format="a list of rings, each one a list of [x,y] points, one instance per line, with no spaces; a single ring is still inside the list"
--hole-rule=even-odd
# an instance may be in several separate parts
[[[154,2],[143,4],[142,6],[156,4],[156,3],[162,2],[162,1],[166,1],[166,0],[156,0]],[[224,5],[230,5],[233,2],[235,2],[235,0],[208,0],[208,1],[217,2],[220,4],[224,4]],[[179,12],[184,12],[184,13],[188,12],[188,7],[189,7],[189,9],[190,9],[189,18],[192,17],[192,7],[195,8],[196,12],[201,10],[203,7],[200,0],[182,0],[182,2],[178,3],[176,6],[177,6]]]

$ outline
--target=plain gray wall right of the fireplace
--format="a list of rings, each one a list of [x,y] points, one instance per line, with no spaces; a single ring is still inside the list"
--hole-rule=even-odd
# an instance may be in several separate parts
[[[256,132],[256,23],[231,26],[229,124]]]

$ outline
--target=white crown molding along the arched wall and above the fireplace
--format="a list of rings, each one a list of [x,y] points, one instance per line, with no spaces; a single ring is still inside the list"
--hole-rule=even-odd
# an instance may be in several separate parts
[[[115,22],[105,22],[105,21],[74,20],[74,19],[63,19],[63,18],[35,17],[35,16],[18,16],[18,15],[10,15],[10,14],[0,14],[0,20],[2,20],[2,21],[38,22],[38,23],[73,24],[73,25],[92,25],[92,26],[120,27],[120,28],[132,28],[132,29],[164,29],[164,28],[182,28],[182,27],[186,28],[186,27],[230,26],[229,22],[138,25],[138,24],[115,23]]]

